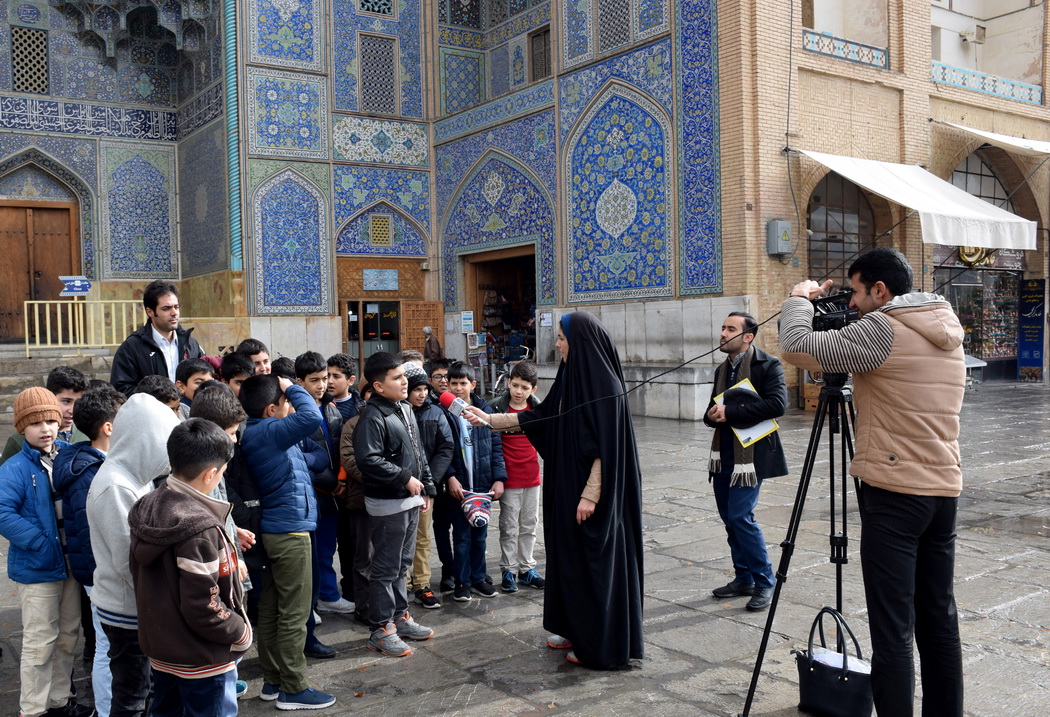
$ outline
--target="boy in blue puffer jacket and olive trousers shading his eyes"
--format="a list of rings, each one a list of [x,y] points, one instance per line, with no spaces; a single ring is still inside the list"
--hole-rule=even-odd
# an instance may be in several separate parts
[[[319,710],[334,704],[335,697],[307,683],[302,654],[311,610],[310,533],[317,528],[317,499],[299,443],[320,427],[321,413],[304,388],[269,374],[246,380],[237,398],[248,414],[240,447],[258,487],[259,528],[270,556],[256,631],[260,696],[277,700],[279,710]]]

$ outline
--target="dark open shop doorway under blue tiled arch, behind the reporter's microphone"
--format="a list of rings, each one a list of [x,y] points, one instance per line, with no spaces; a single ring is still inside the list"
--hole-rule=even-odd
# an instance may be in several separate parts
[[[536,356],[536,247],[463,256],[467,309],[486,340],[486,385],[508,361]]]

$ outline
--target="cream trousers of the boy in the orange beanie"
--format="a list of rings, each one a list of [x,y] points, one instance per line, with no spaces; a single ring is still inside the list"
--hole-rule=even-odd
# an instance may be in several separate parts
[[[80,634],[80,584],[71,577],[54,583],[18,584],[22,606],[23,715],[42,715],[65,707],[72,693],[72,651]]]

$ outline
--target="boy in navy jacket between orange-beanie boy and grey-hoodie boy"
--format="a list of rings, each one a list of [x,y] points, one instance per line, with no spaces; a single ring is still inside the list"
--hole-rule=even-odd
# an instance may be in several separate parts
[[[72,409],[72,422],[88,440],[75,443],[55,459],[51,482],[62,497],[62,518],[65,523],[69,570],[74,578],[91,594],[94,585],[94,555],[91,553],[91,532],[87,524],[87,490],[106,460],[113,419],[127,398],[112,386],[91,388],[80,397]],[[94,709],[100,715],[109,714],[111,680],[109,672],[109,640],[99,623],[99,613],[91,606],[94,625],[94,658],[91,665],[91,690]]]

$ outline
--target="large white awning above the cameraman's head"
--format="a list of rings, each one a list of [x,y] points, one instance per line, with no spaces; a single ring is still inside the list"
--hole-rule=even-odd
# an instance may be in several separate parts
[[[925,244],[1035,249],[1034,222],[988,204],[919,165],[799,151],[869,192],[919,212]]]

